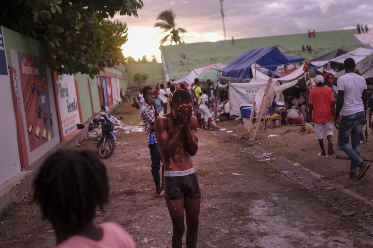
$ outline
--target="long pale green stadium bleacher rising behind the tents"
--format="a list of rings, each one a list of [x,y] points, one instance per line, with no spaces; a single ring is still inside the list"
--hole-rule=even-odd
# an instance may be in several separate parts
[[[166,67],[170,79],[188,75],[195,68],[214,63],[229,64],[233,58],[244,51],[279,45],[284,54],[298,55],[306,59],[319,57],[337,48],[352,51],[364,47],[355,35],[355,29],[316,32],[315,38],[308,38],[307,33],[293,35],[267,36],[258,38],[235,39],[217,42],[198,42],[162,46],[162,63]],[[310,45],[312,52],[302,51],[302,45]],[[289,51],[290,52],[289,52]],[[189,60],[180,55],[185,54]]]

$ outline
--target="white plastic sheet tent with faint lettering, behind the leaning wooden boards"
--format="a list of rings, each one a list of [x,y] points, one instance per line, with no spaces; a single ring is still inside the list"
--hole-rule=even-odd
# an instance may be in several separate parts
[[[255,71],[254,67],[251,68]],[[255,74],[255,72],[254,72]],[[252,106],[254,99],[256,99],[256,111],[259,111],[261,106],[261,99],[263,98],[264,90],[267,87],[269,77],[260,71],[256,70],[256,75],[250,80],[249,83],[229,83],[229,106],[231,107],[230,115],[241,115],[241,104]],[[297,84],[298,80],[291,81],[280,85],[278,78],[273,78],[272,88],[270,90],[271,96],[269,97],[272,103],[273,96],[280,91],[286,90],[289,87]],[[257,96],[256,96],[257,95]],[[277,96],[276,100],[280,100]]]

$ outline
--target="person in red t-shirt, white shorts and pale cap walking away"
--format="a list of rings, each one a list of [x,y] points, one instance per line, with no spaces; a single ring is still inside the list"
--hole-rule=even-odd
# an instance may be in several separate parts
[[[315,137],[319,139],[321,152],[319,157],[327,157],[324,147],[324,132],[328,141],[328,154],[334,154],[333,148],[333,116],[335,114],[335,101],[333,91],[330,88],[323,87],[324,77],[316,75],[316,88],[310,91],[308,98],[308,107],[310,108],[309,119],[313,122],[315,128]]]

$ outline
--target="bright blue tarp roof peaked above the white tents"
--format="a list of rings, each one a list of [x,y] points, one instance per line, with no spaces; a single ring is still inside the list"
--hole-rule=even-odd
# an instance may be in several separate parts
[[[247,78],[251,65],[255,62],[271,71],[276,70],[278,65],[292,64],[303,61],[291,55],[284,55],[277,46],[254,49],[243,52],[232,60],[224,69],[223,77]]]

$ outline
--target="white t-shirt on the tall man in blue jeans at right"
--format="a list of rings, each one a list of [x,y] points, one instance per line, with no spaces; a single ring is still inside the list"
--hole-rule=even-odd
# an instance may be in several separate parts
[[[363,90],[367,88],[365,79],[356,73],[347,73],[338,78],[337,84],[338,90],[345,91],[341,115],[353,115],[364,111],[361,95],[363,94]]]

